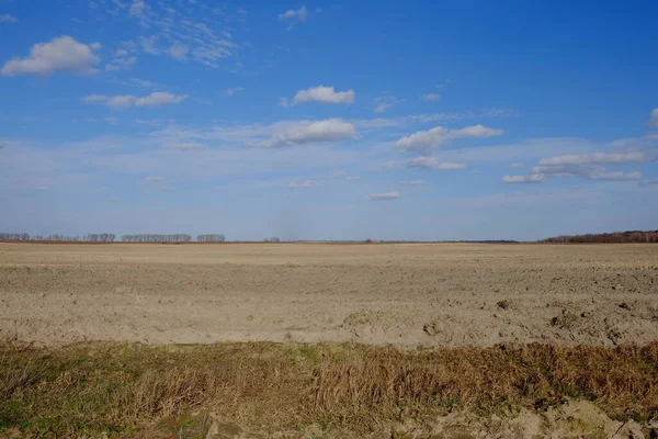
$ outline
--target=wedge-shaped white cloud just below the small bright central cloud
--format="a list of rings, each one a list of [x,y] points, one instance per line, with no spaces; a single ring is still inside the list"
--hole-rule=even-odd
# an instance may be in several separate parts
[[[321,142],[338,142],[354,138],[356,131],[349,122],[339,119],[326,121],[300,121],[284,124],[271,138],[257,144],[265,148],[295,146]]]

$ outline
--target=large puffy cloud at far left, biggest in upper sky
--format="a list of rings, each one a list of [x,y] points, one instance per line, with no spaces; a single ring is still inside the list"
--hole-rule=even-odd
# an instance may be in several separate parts
[[[91,74],[97,70],[93,65],[101,58],[94,54],[93,44],[78,43],[65,35],[37,43],[30,49],[27,58],[13,58],[2,67],[2,75],[43,75],[48,76],[57,70],[73,74]]]

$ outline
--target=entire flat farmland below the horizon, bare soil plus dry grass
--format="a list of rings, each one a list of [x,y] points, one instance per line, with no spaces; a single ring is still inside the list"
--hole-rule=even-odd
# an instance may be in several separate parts
[[[0,395],[0,405],[19,407],[0,412],[14,430],[22,423],[33,431],[48,413],[61,421],[53,407],[30,412],[35,401],[91,404],[80,395],[98,391],[86,386],[99,368],[86,364],[102,359],[102,385],[155,401],[129,412],[103,393],[94,404],[106,418],[71,420],[80,431],[127,435],[126,426],[143,431],[204,413],[194,418],[200,431],[228,419],[261,435],[379,437],[408,414],[418,431],[445,434],[436,419],[453,408],[477,413],[478,431],[489,431],[481,419],[496,413],[536,424],[519,420],[534,412],[518,410],[538,402],[569,410],[585,398],[602,423],[597,431],[636,420],[647,432],[658,410],[658,247],[4,243],[0,331],[0,369],[36,374],[14,373],[14,390]],[[342,382],[350,373],[359,394]],[[155,391],[158,376],[179,384]],[[59,387],[37,389],[49,380]],[[136,385],[150,393],[134,394]],[[571,406],[560,406],[566,398]],[[265,416],[268,401],[277,408]],[[180,437],[183,427],[174,430]]]

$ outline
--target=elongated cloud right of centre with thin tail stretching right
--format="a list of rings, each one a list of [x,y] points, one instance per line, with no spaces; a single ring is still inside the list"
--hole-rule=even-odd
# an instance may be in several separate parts
[[[462,130],[446,130],[436,126],[428,131],[419,131],[397,140],[397,146],[406,151],[429,155],[433,148],[456,138],[484,138],[499,136],[502,130],[492,130],[483,125],[467,126]]]

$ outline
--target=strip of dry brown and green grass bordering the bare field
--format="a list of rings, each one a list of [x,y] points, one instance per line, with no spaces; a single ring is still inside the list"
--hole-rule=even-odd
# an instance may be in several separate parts
[[[264,430],[376,431],[455,408],[484,413],[587,398],[616,418],[658,415],[658,342],[402,352],[360,345],[0,346],[0,436],[139,436],[217,412]],[[173,435],[173,434],[172,434]],[[177,437],[175,435],[169,437]]]

